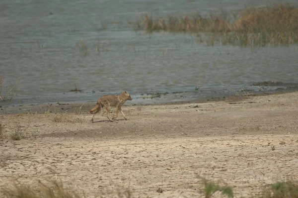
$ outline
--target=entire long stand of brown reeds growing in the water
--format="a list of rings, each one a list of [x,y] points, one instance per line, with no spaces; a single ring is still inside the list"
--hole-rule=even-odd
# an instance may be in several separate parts
[[[154,19],[144,14],[137,30],[196,33],[198,42],[208,46],[231,44],[245,47],[298,43],[298,8],[290,4],[246,8],[234,20],[224,15],[167,16]]]

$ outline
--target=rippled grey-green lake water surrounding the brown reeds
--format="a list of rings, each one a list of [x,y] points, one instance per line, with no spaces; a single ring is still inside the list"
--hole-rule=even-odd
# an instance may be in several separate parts
[[[270,1],[274,2],[283,1]],[[285,2],[298,5],[296,0]],[[258,81],[298,83],[297,45],[207,47],[198,44],[195,35],[149,35],[132,27],[141,13],[232,13],[267,4],[266,0],[1,0],[0,76],[5,77],[3,87],[20,83],[17,97],[0,104],[96,101],[124,90],[133,96],[131,103],[160,103],[258,90],[251,87]],[[83,92],[69,92],[74,84]],[[151,93],[169,94],[142,99]]]

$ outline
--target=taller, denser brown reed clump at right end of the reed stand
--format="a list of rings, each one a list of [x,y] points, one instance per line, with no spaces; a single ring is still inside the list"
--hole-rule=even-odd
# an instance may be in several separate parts
[[[248,8],[233,25],[242,45],[289,45],[298,42],[298,8],[290,4]],[[240,38],[242,37],[242,38]]]

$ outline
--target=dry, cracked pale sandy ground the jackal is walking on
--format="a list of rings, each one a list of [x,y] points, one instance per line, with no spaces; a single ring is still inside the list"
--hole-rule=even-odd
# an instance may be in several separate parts
[[[101,114],[90,122],[94,104],[5,108],[5,133],[33,136],[0,140],[0,188],[60,179],[87,198],[127,189],[136,198],[188,198],[199,197],[200,175],[239,198],[298,175],[298,92],[123,106],[130,120],[114,122]],[[9,114],[17,109],[25,110]]]

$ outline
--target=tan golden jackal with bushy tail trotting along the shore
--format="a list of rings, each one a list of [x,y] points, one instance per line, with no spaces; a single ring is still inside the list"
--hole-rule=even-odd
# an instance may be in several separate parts
[[[101,97],[100,99],[98,99],[98,101],[96,103],[96,106],[90,110],[90,113],[95,111],[93,116],[92,116],[91,121],[93,122],[93,118],[94,118],[95,114],[100,112],[103,107],[106,107],[107,117],[109,118],[109,120],[111,122],[114,121],[114,119],[116,119],[116,117],[118,117],[118,110],[123,115],[125,120],[128,120],[125,117],[123,111],[121,110],[121,106],[122,106],[122,104],[124,104],[124,102],[126,102],[126,100],[132,100],[131,96],[126,91],[122,92],[122,94],[119,94],[119,95],[116,95],[116,96],[115,95],[108,95],[108,96]],[[110,110],[111,110],[112,106],[116,107],[116,116],[111,119],[110,118]]]

